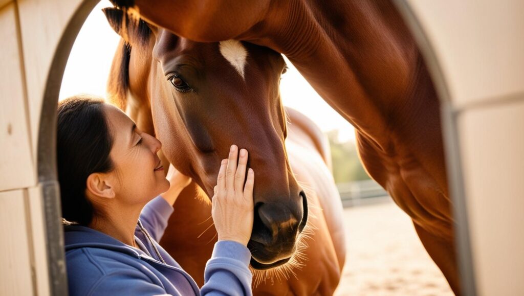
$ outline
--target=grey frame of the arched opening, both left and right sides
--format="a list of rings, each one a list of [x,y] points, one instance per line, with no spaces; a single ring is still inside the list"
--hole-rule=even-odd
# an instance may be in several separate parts
[[[57,107],[57,101],[59,97],[60,92],[60,85],[62,81],[62,76],[64,73],[65,65],[67,64],[67,60],[69,57],[69,53],[71,51],[71,48],[73,46],[75,37],[77,36],[84,20],[89,15],[89,13],[92,11],[92,9],[95,7],[98,1],[84,1],[80,8],[75,12],[75,15],[71,18],[70,23],[67,26],[67,29],[65,30],[64,35],[62,36],[60,43],[57,47],[57,51],[54,53],[54,58],[52,61],[51,69],[52,71],[49,74],[49,77],[47,79],[46,84],[46,91],[45,96],[43,98],[43,107],[42,107],[42,116],[41,116],[41,122],[40,122],[40,130],[39,130],[39,137],[38,137],[38,176],[40,182],[42,182],[44,186],[44,199],[45,199],[45,209],[46,209],[46,226],[48,229],[48,239],[49,239],[49,247],[48,247],[48,257],[49,257],[49,269],[50,269],[50,277],[51,277],[51,290],[53,294],[62,294],[67,292],[67,283],[65,283],[65,270],[63,266],[63,244],[62,244],[62,233],[61,233],[61,225],[59,223],[60,221],[60,207],[59,207],[59,190],[58,190],[58,183],[56,180],[56,156],[54,156],[54,145],[55,145],[55,137],[54,137],[54,131],[56,130],[56,107]],[[399,10],[403,13],[409,14],[409,7],[405,2],[399,1]],[[403,5],[403,6],[402,6]],[[408,9],[408,10],[406,10]],[[411,16],[412,17],[412,16]],[[446,87],[444,85],[444,82],[442,79],[439,79],[439,76],[442,75],[440,70],[438,69],[438,64],[436,63],[436,59],[431,59],[431,47],[428,44],[424,44],[423,41],[423,34],[418,36],[418,34],[422,33],[422,30],[420,27],[417,26],[416,20],[414,20],[414,17],[410,19],[409,16],[406,16],[407,23],[411,26],[414,35],[418,37],[419,45],[422,49],[422,51],[425,53],[425,57],[427,59],[429,68],[431,70],[431,73],[433,75],[433,79],[435,83],[438,86],[438,89],[440,91],[440,97],[445,98],[446,97]],[[418,29],[417,29],[418,28]],[[418,31],[417,31],[418,30]],[[422,41],[421,41],[422,40]],[[426,53],[428,52],[428,53]],[[447,142],[446,151],[448,154],[448,158],[452,158],[453,160],[449,160],[449,166],[450,167],[450,179],[453,180],[460,180],[461,179],[461,172],[460,167],[455,167],[454,164],[460,163],[457,161],[459,157],[459,154],[456,152],[454,154],[453,151],[457,151],[457,135],[455,133],[456,126],[454,124],[454,118],[453,114],[449,113],[450,111],[446,111],[446,102],[445,99],[443,100],[443,122],[446,125],[446,131],[445,133],[445,139]],[[447,112],[447,113],[446,113]],[[460,184],[455,185],[453,187],[452,192],[454,193],[454,196],[463,196],[463,189]],[[465,209],[461,207],[460,200],[455,201],[457,203],[457,209],[455,211],[455,215],[459,217],[460,224],[462,224],[462,220],[464,219],[465,223],[465,216],[463,216],[463,213],[465,213]],[[463,203],[462,203],[463,206]],[[462,218],[461,218],[462,217]],[[460,258],[469,258],[469,257],[462,257],[463,255],[468,254],[469,245],[467,242],[467,224],[464,225],[463,228],[459,229],[459,237],[464,237],[466,239],[465,242],[461,242],[460,244]],[[464,253],[463,253],[464,252]],[[463,259],[466,260],[466,263],[462,263],[462,266],[464,267],[463,275],[471,275],[471,258],[470,259]],[[470,260],[470,264],[467,263],[467,260]],[[466,276],[467,277],[467,276]],[[471,285],[472,289],[473,286],[473,277],[471,276],[471,283],[466,284],[466,287],[469,287]],[[468,290],[470,291],[470,290]],[[474,290],[471,290],[474,291]]]

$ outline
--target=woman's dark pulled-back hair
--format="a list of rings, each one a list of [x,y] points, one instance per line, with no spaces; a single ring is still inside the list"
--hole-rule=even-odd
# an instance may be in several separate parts
[[[95,209],[85,194],[92,173],[113,170],[113,139],[108,129],[104,101],[73,96],[58,104],[57,162],[62,217],[87,226]]]

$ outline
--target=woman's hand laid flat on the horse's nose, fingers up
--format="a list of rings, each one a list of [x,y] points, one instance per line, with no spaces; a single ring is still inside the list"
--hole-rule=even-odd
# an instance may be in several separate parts
[[[231,146],[228,159],[222,160],[214,188],[211,214],[219,240],[234,240],[247,246],[253,231],[253,169],[247,172],[247,150]],[[244,185],[244,180],[246,184]]]

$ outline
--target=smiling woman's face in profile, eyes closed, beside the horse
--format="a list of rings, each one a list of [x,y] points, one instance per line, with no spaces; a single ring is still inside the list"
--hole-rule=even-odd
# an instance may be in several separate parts
[[[113,137],[115,196],[126,204],[143,204],[166,192],[169,181],[157,156],[160,141],[140,131],[118,108],[105,104],[104,113]]]

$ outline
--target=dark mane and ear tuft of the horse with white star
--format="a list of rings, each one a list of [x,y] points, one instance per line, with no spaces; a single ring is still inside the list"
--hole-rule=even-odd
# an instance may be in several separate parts
[[[129,60],[132,47],[145,47],[151,37],[150,25],[126,9],[102,9],[111,27],[122,37],[118,43],[107,80],[109,101],[125,110],[129,89]]]

